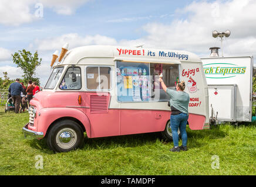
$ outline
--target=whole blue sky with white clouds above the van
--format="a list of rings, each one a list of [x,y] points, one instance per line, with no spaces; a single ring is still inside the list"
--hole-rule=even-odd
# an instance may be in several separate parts
[[[38,2],[43,5],[42,18],[34,15]],[[256,18],[251,10],[255,8],[255,1],[250,0],[2,0],[0,77],[2,71],[8,71],[10,78],[17,76],[15,70],[22,75],[12,63],[11,53],[38,50],[43,58],[38,76],[45,83],[51,54],[65,40],[70,47],[143,43],[145,47],[188,50],[205,57],[210,53],[209,47],[220,46],[211,31],[230,29],[231,36],[224,43],[225,54],[253,55]]]

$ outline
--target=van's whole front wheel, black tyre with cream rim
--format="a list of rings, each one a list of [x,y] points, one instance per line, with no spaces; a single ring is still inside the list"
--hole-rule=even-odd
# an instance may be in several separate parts
[[[48,147],[55,152],[68,152],[83,146],[83,130],[72,120],[53,124],[46,137]]]

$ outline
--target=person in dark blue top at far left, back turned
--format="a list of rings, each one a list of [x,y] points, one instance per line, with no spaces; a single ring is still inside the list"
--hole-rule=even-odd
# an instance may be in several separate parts
[[[8,91],[11,93],[12,100],[15,103],[15,113],[19,113],[19,108],[21,105],[21,92],[23,91],[22,85],[19,83],[19,79],[13,82]]]

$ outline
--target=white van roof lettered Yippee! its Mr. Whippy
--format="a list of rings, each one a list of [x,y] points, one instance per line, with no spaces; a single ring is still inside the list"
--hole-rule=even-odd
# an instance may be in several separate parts
[[[150,49],[143,47],[122,47],[122,46],[83,46],[69,50],[63,58],[61,64],[88,64],[103,60],[103,58],[114,61],[139,61],[147,63],[172,63],[181,62],[201,63],[201,59],[194,53],[179,50]],[[92,62],[93,63],[93,62]]]

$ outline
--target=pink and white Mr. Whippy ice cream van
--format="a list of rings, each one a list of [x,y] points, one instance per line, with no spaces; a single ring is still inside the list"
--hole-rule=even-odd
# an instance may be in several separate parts
[[[87,137],[161,132],[171,140],[168,88],[186,82],[188,125],[209,128],[208,88],[199,57],[187,51],[85,46],[53,54],[53,70],[35,94],[23,133],[46,138],[53,151],[70,151]],[[52,65],[51,64],[51,65]]]

